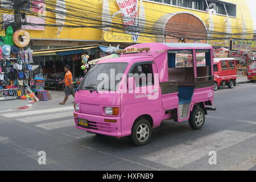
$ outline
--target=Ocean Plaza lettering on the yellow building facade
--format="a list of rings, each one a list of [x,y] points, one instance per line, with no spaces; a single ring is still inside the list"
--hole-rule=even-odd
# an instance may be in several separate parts
[[[104,40],[106,42],[121,42],[121,43],[134,43],[133,35],[118,33],[118,32],[105,32]],[[150,35],[138,35],[137,43],[156,42],[156,38]]]

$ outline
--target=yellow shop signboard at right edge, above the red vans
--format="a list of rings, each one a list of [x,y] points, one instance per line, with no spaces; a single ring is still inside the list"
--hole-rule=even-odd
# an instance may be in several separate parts
[[[251,40],[233,40],[232,49],[235,51],[255,51],[256,43]]]

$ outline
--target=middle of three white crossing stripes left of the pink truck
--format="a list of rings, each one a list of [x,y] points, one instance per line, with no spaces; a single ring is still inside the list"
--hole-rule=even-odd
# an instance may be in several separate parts
[[[36,115],[27,118],[16,119],[17,121],[23,123],[34,123],[38,121],[48,121],[49,119],[57,119],[57,118],[65,118],[65,117],[73,117],[73,111],[66,111],[65,113],[48,113],[44,115]]]

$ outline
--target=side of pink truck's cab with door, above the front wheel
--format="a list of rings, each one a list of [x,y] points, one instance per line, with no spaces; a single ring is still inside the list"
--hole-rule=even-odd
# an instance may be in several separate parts
[[[157,125],[155,117],[159,118],[162,109],[157,73],[155,63],[152,60],[138,60],[131,65],[127,75],[127,93],[122,94],[123,130],[127,130],[127,127],[133,125],[135,119],[145,114],[151,115],[154,119],[154,125]],[[135,84],[133,86],[130,86],[130,78],[131,80],[134,78]]]

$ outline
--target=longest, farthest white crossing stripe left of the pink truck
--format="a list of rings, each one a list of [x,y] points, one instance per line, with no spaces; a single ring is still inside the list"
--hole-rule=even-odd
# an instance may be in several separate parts
[[[43,109],[43,110],[32,110],[32,111],[16,111],[13,113],[6,113],[6,114],[1,114],[4,117],[7,118],[13,118],[13,117],[20,117],[24,115],[32,115],[32,114],[42,114],[42,113],[52,113],[56,111],[64,111],[64,110],[74,110],[73,106],[66,106],[66,107],[57,107],[53,109]]]

